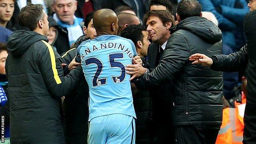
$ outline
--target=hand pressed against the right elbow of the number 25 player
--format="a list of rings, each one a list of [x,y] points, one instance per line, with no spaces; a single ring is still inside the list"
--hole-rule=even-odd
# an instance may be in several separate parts
[[[145,73],[146,68],[142,67],[142,65],[133,57],[133,64],[127,65],[125,70],[127,74],[133,75],[130,78],[130,80],[133,80],[134,78],[142,76]]]

